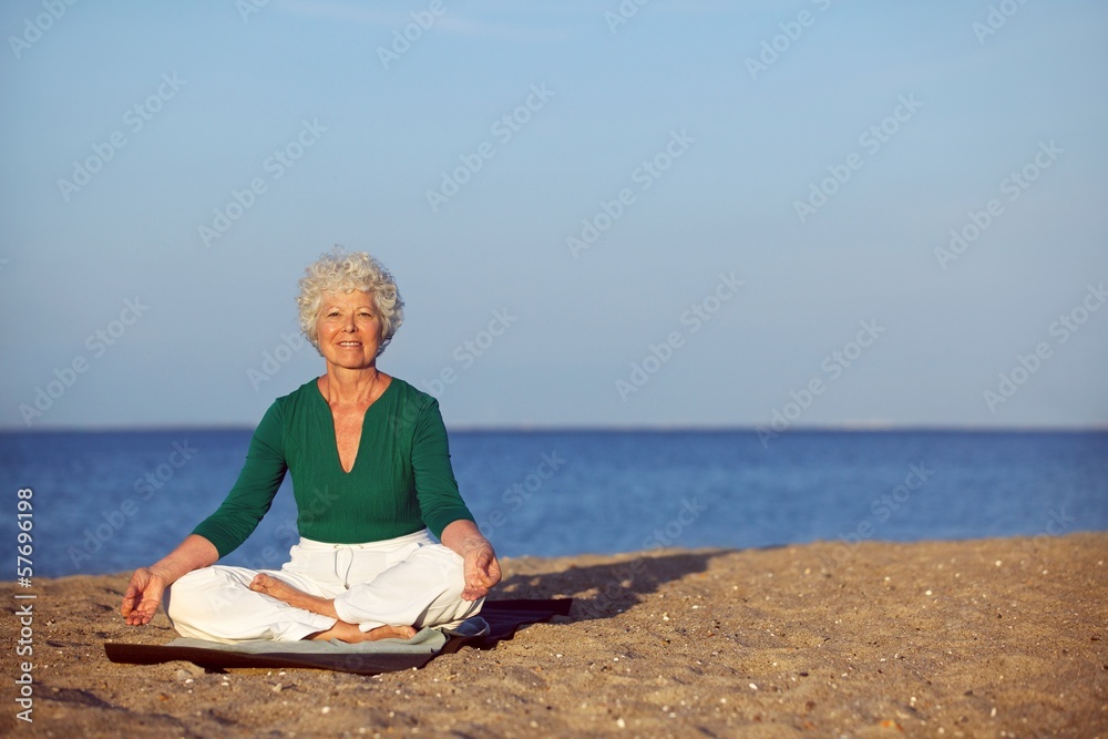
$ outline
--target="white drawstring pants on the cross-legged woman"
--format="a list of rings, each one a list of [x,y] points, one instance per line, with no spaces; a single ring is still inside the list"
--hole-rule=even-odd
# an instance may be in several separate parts
[[[296,642],[336,624],[249,588],[259,572],[297,589],[334,598],[339,618],[362,632],[378,626],[442,626],[481,610],[483,598],[463,601],[462,557],[435,544],[427,531],[369,544],[326,544],[301,538],[291,560],[275,569],[213,565],[175,582],[165,610],[182,636],[223,644],[246,639]]]

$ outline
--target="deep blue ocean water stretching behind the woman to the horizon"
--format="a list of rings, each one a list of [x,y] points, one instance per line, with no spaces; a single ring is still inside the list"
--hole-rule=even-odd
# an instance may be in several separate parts
[[[249,439],[0,433],[0,535],[16,546],[18,491],[30,489],[35,576],[150,564],[219,505]],[[504,556],[1108,530],[1108,432],[455,431],[450,441],[462,494]],[[279,566],[295,520],[286,480],[224,562]],[[14,560],[0,579],[16,578]]]

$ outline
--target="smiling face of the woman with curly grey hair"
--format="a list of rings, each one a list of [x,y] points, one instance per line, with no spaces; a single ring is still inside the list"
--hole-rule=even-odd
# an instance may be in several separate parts
[[[373,367],[381,346],[381,319],[368,292],[325,292],[316,319],[319,351],[328,365]]]

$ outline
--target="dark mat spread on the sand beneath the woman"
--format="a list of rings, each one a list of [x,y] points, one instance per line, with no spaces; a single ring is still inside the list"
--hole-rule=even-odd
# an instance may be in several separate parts
[[[497,642],[511,639],[517,629],[527,624],[547,622],[554,616],[567,616],[573,598],[553,601],[486,601],[481,616],[489,625],[488,632],[478,636],[452,635],[433,653],[407,651],[320,651],[305,653],[283,650],[288,643],[273,642],[273,650],[264,653],[233,651],[227,645],[220,648],[198,646],[152,646],[144,644],[104,643],[104,651],[113,663],[130,665],[156,665],[182,659],[205,669],[222,670],[234,667],[299,667],[330,669],[359,675],[378,675],[394,670],[422,667],[441,654],[452,654],[463,646],[491,647]],[[441,638],[441,637],[440,637]],[[195,644],[198,639],[189,639]],[[257,643],[253,643],[257,644]],[[291,643],[302,644],[302,643]],[[375,643],[383,646],[383,643]],[[407,643],[399,643],[404,645]],[[268,644],[267,644],[268,646]]]

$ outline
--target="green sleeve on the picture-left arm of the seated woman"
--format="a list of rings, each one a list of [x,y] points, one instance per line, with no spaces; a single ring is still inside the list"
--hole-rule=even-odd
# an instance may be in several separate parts
[[[215,513],[194,534],[212,542],[224,557],[242,545],[269,511],[288,464],[284,450],[284,422],[279,402],[266,411],[250,439],[238,481]]]

